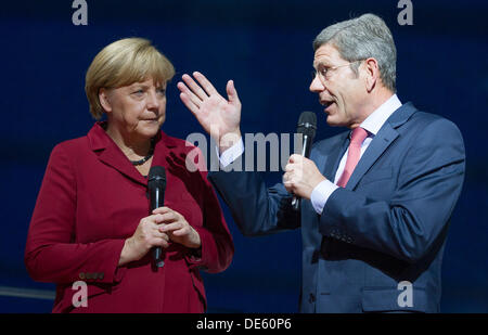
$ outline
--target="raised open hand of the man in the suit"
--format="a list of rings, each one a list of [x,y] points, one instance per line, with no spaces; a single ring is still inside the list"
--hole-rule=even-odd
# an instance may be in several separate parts
[[[193,76],[200,85],[191,76],[183,75],[183,81],[177,85],[180,99],[223,152],[241,138],[241,101],[234,82],[227,82],[229,100],[226,100],[204,75],[194,72]]]

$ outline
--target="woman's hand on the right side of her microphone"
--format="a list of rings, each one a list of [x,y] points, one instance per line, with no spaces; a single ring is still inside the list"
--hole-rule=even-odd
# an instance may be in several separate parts
[[[167,234],[172,242],[189,248],[198,248],[202,245],[200,234],[178,211],[168,207],[159,207],[153,210],[153,215],[162,216],[159,232]]]

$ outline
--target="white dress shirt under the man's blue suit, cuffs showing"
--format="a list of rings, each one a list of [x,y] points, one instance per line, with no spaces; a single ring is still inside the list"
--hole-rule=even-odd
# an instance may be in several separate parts
[[[397,94],[391,95],[385,103],[383,103],[376,111],[370,114],[364,121],[360,125],[361,128],[368,131],[368,138],[365,138],[364,142],[361,145],[361,155],[365,152],[371,141],[373,141],[376,133],[383,127],[388,117],[399,107],[401,106],[401,102],[398,99]],[[218,149],[217,149],[218,152]],[[331,194],[338,189],[337,181],[341,178],[341,175],[346,167],[347,154],[349,150],[346,151],[343,158],[341,159],[337,171],[335,172],[334,183],[330,180],[324,180],[319,183],[312,191],[310,201],[313,206],[313,209],[318,214],[322,214],[323,207],[328,202]],[[244,153],[244,142],[241,141],[235,143],[233,146],[226,150],[221,156],[219,156],[220,165],[222,167],[228,166],[233,160],[235,160],[239,156]],[[319,167],[320,169],[320,167]]]

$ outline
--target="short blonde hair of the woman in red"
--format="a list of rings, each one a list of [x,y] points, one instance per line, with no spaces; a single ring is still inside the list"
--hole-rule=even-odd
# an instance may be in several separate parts
[[[151,41],[143,38],[117,40],[103,48],[88,68],[85,92],[90,113],[95,119],[104,113],[99,100],[101,88],[119,88],[150,78],[162,85],[172,76],[175,67]]]

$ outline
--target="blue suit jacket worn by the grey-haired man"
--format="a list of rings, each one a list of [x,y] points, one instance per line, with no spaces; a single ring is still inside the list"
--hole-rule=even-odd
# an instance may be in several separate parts
[[[310,158],[329,180],[348,134],[312,147]],[[284,186],[268,190],[258,173],[219,171],[209,179],[244,234],[301,228],[300,311],[437,312],[442,252],[464,160],[455,125],[408,103],[384,124],[322,215],[310,201],[295,215]],[[402,286],[403,281],[412,285]],[[411,304],[401,296],[409,293]]]

